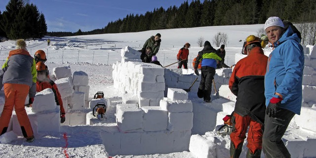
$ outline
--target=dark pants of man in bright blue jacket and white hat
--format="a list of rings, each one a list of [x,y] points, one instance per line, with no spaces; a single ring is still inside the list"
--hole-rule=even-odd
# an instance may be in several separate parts
[[[266,158],[291,158],[281,138],[294,115],[294,112],[284,108],[276,112],[277,117],[265,115],[262,149]]]

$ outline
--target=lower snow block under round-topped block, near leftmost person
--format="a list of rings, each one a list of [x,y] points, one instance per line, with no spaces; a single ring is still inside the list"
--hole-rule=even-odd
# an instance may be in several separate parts
[[[57,106],[54,112],[42,111],[36,113],[39,132],[60,132],[59,109],[60,107]]]

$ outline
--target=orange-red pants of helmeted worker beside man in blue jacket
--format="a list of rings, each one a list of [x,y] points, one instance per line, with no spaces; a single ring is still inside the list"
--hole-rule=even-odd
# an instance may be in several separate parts
[[[235,118],[234,118],[235,117]],[[247,148],[253,154],[257,149],[262,149],[263,125],[251,119],[250,116],[244,117],[234,112],[232,117],[233,132],[231,133],[231,141],[237,147],[246,138],[246,132],[249,126],[247,137]]]

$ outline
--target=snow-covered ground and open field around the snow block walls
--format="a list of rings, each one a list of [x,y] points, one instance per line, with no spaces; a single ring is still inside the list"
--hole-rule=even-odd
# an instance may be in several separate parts
[[[161,47],[158,52],[158,60],[162,65],[176,62],[176,54],[186,42],[191,44],[189,55],[189,67],[192,67],[194,57],[202,50],[197,46],[197,39],[203,37],[210,41],[218,32],[228,34],[226,46],[227,65],[235,64],[235,53],[240,53],[242,42],[247,36],[256,35],[257,30],[263,25],[240,25],[240,26],[214,26],[200,28],[183,28],[169,30],[154,30],[138,33],[102,34],[77,37],[45,37],[41,40],[28,41],[27,48],[31,55],[42,49],[47,53],[47,66],[52,68],[61,65],[70,65],[72,72],[84,71],[89,75],[90,92],[92,98],[97,91],[103,91],[105,98],[112,101],[120,100],[122,94],[113,87],[112,64],[120,61],[120,49],[130,46],[136,50],[141,49],[144,42],[151,36],[160,33]],[[51,46],[47,46],[47,39],[51,40]],[[15,41],[0,43],[0,64],[5,61],[8,52],[13,50]],[[214,47],[218,49],[218,47]],[[176,68],[174,64],[170,66]],[[118,101],[119,102],[119,101]],[[115,103],[115,102],[114,102]],[[113,126],[115,122],[115,107],[107,110],[106,126]],[[43,132],[36,137],[33,143],[25,142],[19,137],[8,144],[0,144],[0,158],[65,158],[65,151],[69,158],[107,158],[107,153],[99,138],[105,124],[62,126],[61,133]],[[68,138],[68,146],[64,134]],[[190,152],[171,153],[166,155],[145,156],[116,156],[115,158],[194,158]]]

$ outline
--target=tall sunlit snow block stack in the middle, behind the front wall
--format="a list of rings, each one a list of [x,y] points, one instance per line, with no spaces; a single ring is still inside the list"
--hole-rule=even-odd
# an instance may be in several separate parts
[[[122,62],[113,64],[114,87],[124,93],[123,104],[158,106],[164,97],[164,69],[141,61],[140,52],[126,47],[121,51]]]

